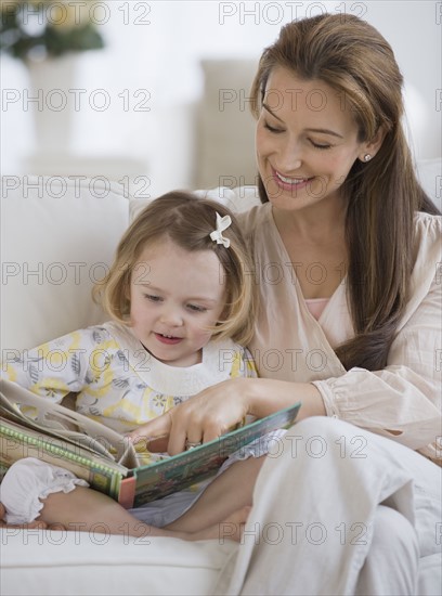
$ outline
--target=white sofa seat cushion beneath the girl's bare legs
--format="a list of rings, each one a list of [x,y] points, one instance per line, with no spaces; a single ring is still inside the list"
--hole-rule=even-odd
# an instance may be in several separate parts
[[[8,596],[211,594],[227,556],[237,547],[232,541],[13,528],[0,535],[0,594]]]

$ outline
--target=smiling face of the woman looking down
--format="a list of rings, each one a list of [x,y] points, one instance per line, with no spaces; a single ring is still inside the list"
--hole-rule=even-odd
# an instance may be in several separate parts
[[[320,80],[274,68],[257,124],[258,169],[269,200],[282,210],[340,203],[354,160],[367,153],[343,96]]]

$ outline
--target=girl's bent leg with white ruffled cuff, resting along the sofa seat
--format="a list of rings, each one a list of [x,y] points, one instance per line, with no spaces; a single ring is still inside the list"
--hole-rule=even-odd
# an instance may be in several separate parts
[[[147,524],[109,496],[90,489],[87,482],[70,471],[35,457],[21,459],[11,466],[0,485],[0,503],[1,517],[10,526],[184,540],[224,535],[220,534],[224,529],[224,526],[220,526],[224,521],[221,517],[213,518],[205,526],[188,526],[185,530],[162,530]],[[225,537],[238,540],[248,510],[240,508],[230,510],[229,514],[234,514],[232,519],[237,531],[232,533],[230,527],[232,535]],[[232,523],[232,519],[226,521]]]

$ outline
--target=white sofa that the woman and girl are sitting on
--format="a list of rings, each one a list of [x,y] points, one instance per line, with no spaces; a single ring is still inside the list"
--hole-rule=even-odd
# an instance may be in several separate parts
[[[425,163],[419,171],[440,205],[440,161]],[[16,350],[104,320],[90,289],[142,204],[103,180],[6,176],[1,184],[4,360]],[[212,196],[236,210],[258,203],[255,187],[223,189]],[[237,547],[231,541],[3,529],[0,594],[211,594]],[[439,559],[428,565],[437,566]],[[420,594],[438,592],[434,585],[419,585]]]

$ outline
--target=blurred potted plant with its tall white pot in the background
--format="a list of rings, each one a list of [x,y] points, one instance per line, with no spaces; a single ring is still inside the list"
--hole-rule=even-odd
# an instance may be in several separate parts
[[[75,111],[72,91],[79,56],[104,47],[90,0],[0,0],[0,52],[26,67],[31,98],[36,154],[57,156],[69,151]],[[99,13],[99,11],[96,11]]]

